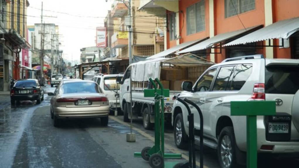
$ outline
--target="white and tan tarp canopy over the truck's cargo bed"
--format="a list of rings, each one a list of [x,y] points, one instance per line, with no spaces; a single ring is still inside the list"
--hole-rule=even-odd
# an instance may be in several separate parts
[[[173,58],[159,57],[152,60],[140,61],[132,64],[132,81],[148,81],[150,77],[152,79],[160,79],[161,64],[168,66],[189,67],[213,65],[214,63],[191,53],[179,55]]]

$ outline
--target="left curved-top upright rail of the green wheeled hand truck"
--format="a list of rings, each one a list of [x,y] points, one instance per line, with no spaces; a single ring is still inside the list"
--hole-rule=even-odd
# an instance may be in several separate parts
[[[155,111],[155,146],[154,146],[154,151],[149,151],[149,154],[157,153],[160,150],[160,115],[159,115],[159,101],[156,101],[157,97],[159,96],[157,94],[157,85],[155,82],[152,80],[152,78],[149,78],[149,81],[152,83],[155,89],[155,106],[154,106],[154,111]]]

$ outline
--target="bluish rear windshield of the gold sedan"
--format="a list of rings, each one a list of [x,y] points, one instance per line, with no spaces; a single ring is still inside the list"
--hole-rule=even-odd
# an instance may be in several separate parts
[[[72,82],[64,83],[60,87],[59,94],[68,93],[103,93],[96,83]]]

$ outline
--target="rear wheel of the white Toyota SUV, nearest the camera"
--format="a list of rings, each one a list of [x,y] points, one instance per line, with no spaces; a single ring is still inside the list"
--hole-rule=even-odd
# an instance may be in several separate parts
[[[236,140],[233,127],[224,127],[218,138],[218,161],[221,168],[233,168],[236,162]]]

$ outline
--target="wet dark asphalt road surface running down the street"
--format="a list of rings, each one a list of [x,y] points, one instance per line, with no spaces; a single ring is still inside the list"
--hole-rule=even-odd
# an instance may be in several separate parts
[[[46,92],[55,88],[45,87]],[[6,99],[9,102],[9,97]],[[133,122],[136,142],[126,142],[130,131],[123,116],[110,116],[108,127],[100,119],[65,120],[61,127],[53,127],[49,113],[50,98],[37,105],[22,101],[0,110],[0,167],[150,167],[134,152],[153,145],[154,131],[144,130],[142,120]],[[7,102],[2,101],[5,105]],[[179,150],[173,141],[173,128],[165,128],[165,151],[182,153],[182,159],[167,161],[186,162],[187,150]],[[196,153],[199,165],[199,151]],[[205,167],[219,167],[216,151],[204,148]],[[298,167],[299,161],[259,158],[259,168]]]

